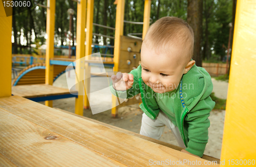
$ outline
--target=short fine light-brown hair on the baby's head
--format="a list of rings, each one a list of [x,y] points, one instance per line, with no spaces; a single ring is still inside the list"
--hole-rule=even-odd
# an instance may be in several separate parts
[[[181,18],[162,17],[153,23],[148,29],[143,40],[148,48],[154,48],[156,52],[169,52],[170,46],[184,50],[187,55],[185,62],[188,63],[194,52],[193,29]],[[184,57],[179,58],[184,61]]]

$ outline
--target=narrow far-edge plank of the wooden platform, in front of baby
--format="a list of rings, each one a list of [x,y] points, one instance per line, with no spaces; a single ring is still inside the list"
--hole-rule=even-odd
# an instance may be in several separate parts
[[[175,145],[172,145],[172,144],[169,144],[169,143],[166,143],[166,142],[162,142],[162,141],[156,140],[154,138],[147,137],[147,136],[141,135],[139,133],[135,133],[135,132],[132,132],[132,131],[129,131],[129,130],[125,130],[125,129],[122,129],[122,128],[119,128],[119,127],[116,127],[116,126],[113,126],[113,125],[109,125],[109,124],[106,124],[106,123],[103,123],[103,122],[100,122],[100,121],[97,121],[97,120],[94,120],[94,119],[91,119],[91,118],[79,116],[79,115],[76,115],[74,113],[67,112],[66,110],[63,110],[63,109],[60,109],[60,108],[55,108],[55,109],[58,109],[58,110],[60,110],[62,112],[71,114],[71,115],[76,116],[76,117],[80,117],[82,119],[86,119],[88,121],[92,121],[92,122],[104,125],[106,127],[118,130],[118,131],[126,133],[126,134],[130,134],[130,135],[133,135],[133,136],[136,136],[136,137],[143,138],[144,140],[151,141],[151,142],[157,143],[159,145],[163,145],[163,146],[166,146],[166,147],[178,150],[178,151],[181,151],[183,149],[183,148],[181,148],[179,146],[175,146]],[[203,155],[202,159],[205,159],[205,160],[208,160],[208,161],[217,161],[217,163],[220,164],[220,159],[215,158],[215,157],[211,157],[211,156],[208,156],[208,155]]]

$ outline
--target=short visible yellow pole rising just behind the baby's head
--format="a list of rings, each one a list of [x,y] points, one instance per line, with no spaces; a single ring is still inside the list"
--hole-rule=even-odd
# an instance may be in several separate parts
[[[150,9],[151,9],[151,0],[145,0],[142,40],[144,39],[146,32],[147,32],[148,28],[150,27]]]

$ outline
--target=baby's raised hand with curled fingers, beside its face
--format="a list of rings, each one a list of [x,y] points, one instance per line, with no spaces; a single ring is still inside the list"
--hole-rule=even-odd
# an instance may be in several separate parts
[[[133,86],[133,74],[118,72],[111,76],[113,87],[117,91],[126,91]]]

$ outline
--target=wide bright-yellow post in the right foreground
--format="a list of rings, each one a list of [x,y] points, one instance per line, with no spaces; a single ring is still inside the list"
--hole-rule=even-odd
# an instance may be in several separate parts
[[[256,161],[255,7],[256,1],[237,1],[221,166]]]

